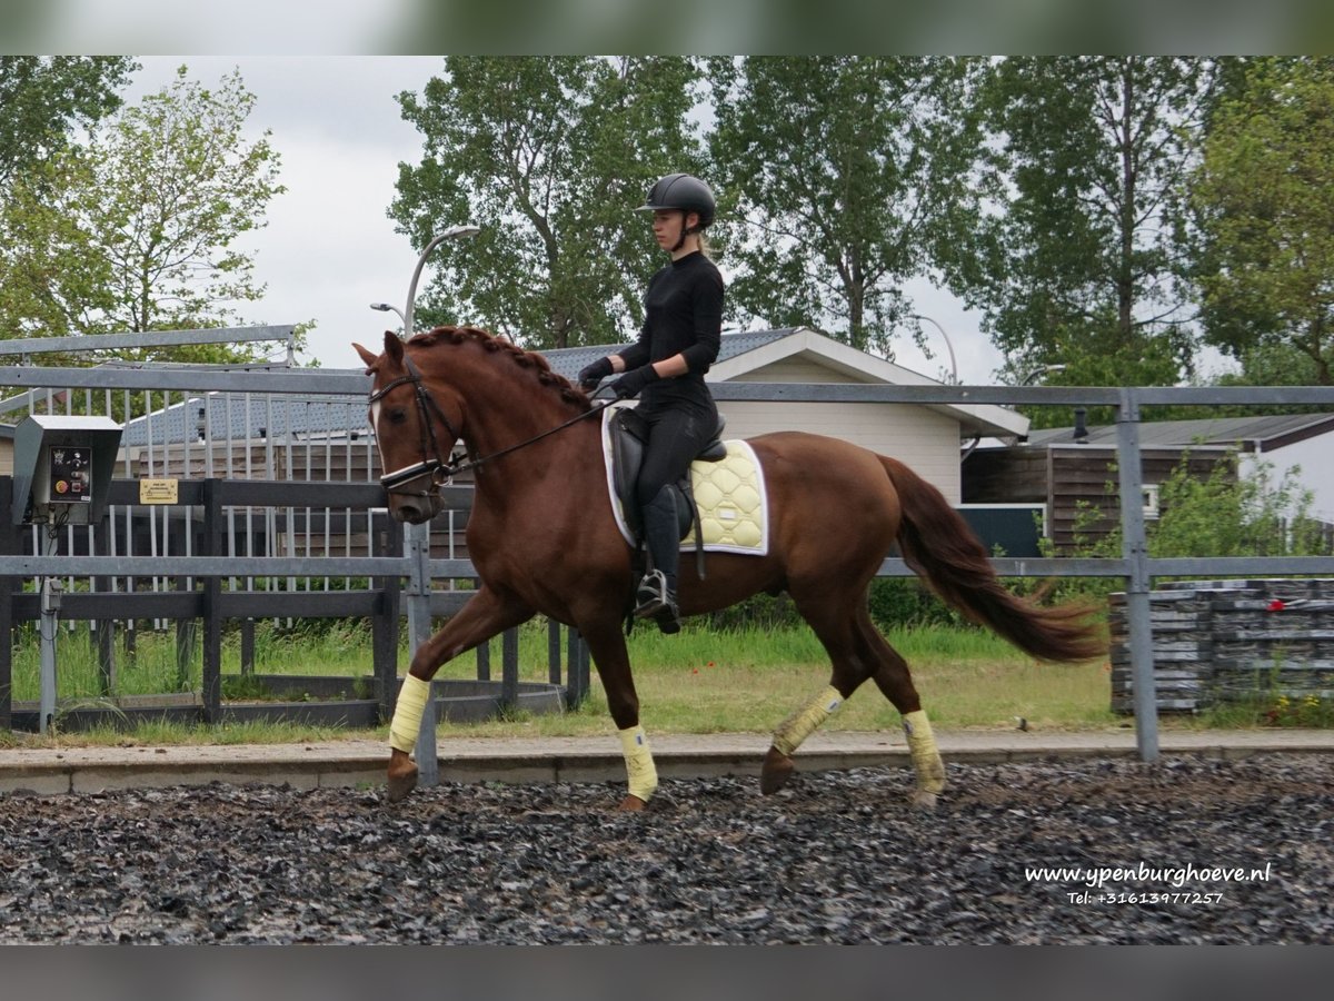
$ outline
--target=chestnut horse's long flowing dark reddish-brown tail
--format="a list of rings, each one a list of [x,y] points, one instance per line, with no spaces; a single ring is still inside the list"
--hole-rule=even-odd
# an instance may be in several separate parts
[[[879,456],[902,505],[903,561],[951,607],[1043,661],[1089,661],[1107,653],[1087,605],[1043,606],[1007,591],[986,549],[939,490],[896,459]]]

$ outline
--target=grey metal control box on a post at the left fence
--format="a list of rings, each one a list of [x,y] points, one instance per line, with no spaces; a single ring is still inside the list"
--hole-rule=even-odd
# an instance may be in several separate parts
[[[101,521],[120,431],[111,418],[24,418],[13,430],[15,525]]]

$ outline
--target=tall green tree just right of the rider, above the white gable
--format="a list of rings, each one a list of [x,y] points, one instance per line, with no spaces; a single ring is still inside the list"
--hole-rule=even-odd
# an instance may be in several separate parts
[[[771,326],[818,323],[892,354],[892,331],[912,312],[903,283],[956,272],[976,231],[968,65],[711,60],[710,157],[727,259],[740,272],[734,310]]]

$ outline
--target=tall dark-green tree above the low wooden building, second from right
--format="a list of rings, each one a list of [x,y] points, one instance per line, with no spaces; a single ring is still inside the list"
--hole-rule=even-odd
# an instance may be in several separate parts
[[[1013,380],[1055,363],[1070,384],[1173,384],[1189,370],[1177,199],[1215,71],[1149,56],[992,65],[978,97],[1000,204],[990,256],[958,291]]]

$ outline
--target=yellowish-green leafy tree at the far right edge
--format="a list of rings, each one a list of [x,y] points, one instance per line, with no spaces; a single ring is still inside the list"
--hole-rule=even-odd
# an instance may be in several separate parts
[[[1334,63],[1257,60],[1191,194],[1205,339],[1246,380],[1334,384]]]

